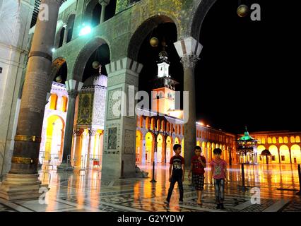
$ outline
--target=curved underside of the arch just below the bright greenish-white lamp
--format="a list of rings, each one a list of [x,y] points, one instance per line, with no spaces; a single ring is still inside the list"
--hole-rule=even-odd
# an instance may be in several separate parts
[[[87,44],[85,44],[83,48],[81,48],[81,51],[78,53],[78,57],[76,58],[76,61],[74,63],[73,71],[71,73],[71,75],[73,75],[72,79],[76,81],[83,80],[83,71],[85,70],[85,65],[91,57],[91,54],[93,54],[93,52],[95,52],[102,44],[107,44],[110,52],[111,48],[109,42],[107,42],[104,37],[99,36],[93,37],[87,42]]]

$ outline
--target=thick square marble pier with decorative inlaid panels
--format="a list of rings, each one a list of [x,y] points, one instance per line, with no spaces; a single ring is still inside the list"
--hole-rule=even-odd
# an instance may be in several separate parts
[[[124,58],[108,64],[106,69],[108,81],[102,177],[120,177],[122,161],[124,177],[135,177],[136,113],[132,106],[127,109],[129,103],[126,100],[136,106],[134,95],[129,95],[134,92],[129,88],[134,88],[135,92],[138,90],[138,74],[142,65]],[[122,114],[118,109],[122,109]]]

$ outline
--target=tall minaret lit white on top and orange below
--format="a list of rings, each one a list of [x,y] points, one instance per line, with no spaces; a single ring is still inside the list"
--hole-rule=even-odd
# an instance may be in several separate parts
[[[152,111],[168,114],[175,110],[175,85],[177,81],[170,76],[170,62],[165,51],[166,43],[163,42],[163,51],[159,54],[158,76],[155,78],[152,90]]]

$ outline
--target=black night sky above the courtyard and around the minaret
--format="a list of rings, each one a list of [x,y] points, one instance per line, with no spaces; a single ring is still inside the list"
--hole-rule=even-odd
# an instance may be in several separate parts
[[[237,0],[218,0],[203,21],[203,50],[196,66],[198,120],[233,133],[242,133],[244,126],[250,132],[301,131],[297,64],[300,8],[296,1],[241,3],[260,4],[261,21],[252,21],[250,16],[238,17]],[[175,27],[165,27],[163,32],[170,36],[170,43],[174,42],[175,37],[170,34],[176,33]],[[155,36],[154,33],[151,35]],[[146,78],[157,74],[155,60],[159,50],[152,49],[148,40],[141,47],[138,60],[144,69],[139,78],[140,90],[149,90]],[[172,58],[171,76],[182,83],[182,66],[172,44],[167,52]],[[182,90],[182,85],[177,90]]]

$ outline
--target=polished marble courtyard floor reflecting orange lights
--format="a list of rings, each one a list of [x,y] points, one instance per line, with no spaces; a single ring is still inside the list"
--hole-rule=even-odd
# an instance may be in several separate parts
[[[301,212],[297,165],[245,165],[245,186],[242,189],[240,165],[229,167],[230,182],[225,188],[225,210],[217,210],[213,184],[208,183],[206,168],[203,205],[196,204],[196,191],[187,178],[184,181],[184,203],[179,205],[177,185],[170,206],[164,204],[169,188],[168,165],[156,165],[156,183],[151,183],[152,166],[139,166],[149,178],[107,178],[99,170],[57,172],[41,169],[40,179],[49,184],[46,198],[5,201],[0,198],[0,211],[6,212]],[[252,188],[260,189],[260,204],[252,204]],[[41,191],[43,192],[43,191]]]

